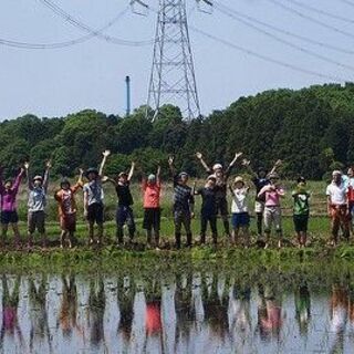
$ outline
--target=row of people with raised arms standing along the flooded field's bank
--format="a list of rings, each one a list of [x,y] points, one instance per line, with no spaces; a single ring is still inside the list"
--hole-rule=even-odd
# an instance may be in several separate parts
[[[135,236],[136,226],[133,214],[133,196],[131,192],[131,180],[134,174],[135,164],[132,163],[128,173],[122,171],[116,179],[104,176],[104,166],[110,150],[103,153],[103,159],[98,169],[88,168],[85,173],[80,169],[80,176],[75,185],[71,185],[69,179],[61,180],[60,189],[55,192],[54,198],[59,206],[59,218],[61,227],[61,247],[66,243],[70,248],[74,232],[76,229],[77,206],[75,194],[83,188],[84,194],[84,216],[88,225],[88,244],[101,243],[103,238],[104,226],[104,192],[103,184],[112,183],[117,194],[116,210],[116,239],[118,244],[124,243],[124,226],[127,226],[128,237],[132,241]],[[204,160],[200,153],[196,154],[208,177],[205,186],[196,188],[196,184],[188,185],[189,176],[187,173],[177,173],[174,166],[174,157],[168,158],[170,176],[174,180],[174,223],[175,223],[175,242],[176,248],[181,247],[181,230],[186,232],[187,247],[192,246],[191,219],[194,218],[195,196],[201,196],[200,210],[200,243],[206,242],[207,226],[210,226],[212,242],[218,242],[217,217],[221,216],[225,233],[231,243],[241,242],[246,248],[250,244],[249,236],[249,189],[241,176],[237,176],[230,185],[229,176],[236,162],[241,156],[237,153],[235,158],[227,168],[221,164],[215,164],[212,168]],[[264,247],[270,246],[270,235],[274,225],[278,236],[278,247],[282,247],[282,215],[281,198],[285,195],[284,189],[279,184],[277,168],[281,166],[278,160],[270,173],[266,168],[259,168],[257,173],[250,167],[250,162],[242,159],[241,165],[252,175],[252,183],[256,187],[254,211],[257,216],[258,237],[262,239],[264,236]],[[21,168],[14,183],[12,180],[0,180],[1,196],[1,226],[2,240],[6,239],[8,227],[11,225],[14,232],[14,243],[20,244],[20,233],[18,228],[18,212],[15,198],[19,190],[21,179],[28,176],[28,246],[33,244],[33,233],[39,231],[42,238],[43,247],[48,244],[45,233],[45,205],[49,185],[49,173],[51,162],[46,163],[44,176],[30,177],[30,164],[25,163]],[[83,176],[87,181],[83,183]],[[142,189],[144,195],[144,221],[143,228],[147,233],[147,243],[156,248],[159,247],[160,238],[160,167],[157,173],[143,178]],[[231,226],[229,226],[229,208],[228,208],[228,190],[232,196],[231,204]],[[352,168],[348,175],[344,176],[341,171],[333,171],[333,180],[327,186],[327,210],[332,218],[332,239],[331,243],[335,244],[339,240],[339,231],[343,230],[343,236],[347,239],[351,230],[351,216],[354,214],[354,174]],[[309,199],[310,192],[306,189],[306,181],[303,177],[299,177],[296,188],[292,191],[293,197],[293,221],[298,233],[298,242],[300,247],[306,244],[308,222],[309,222]],[[97,226],[96,237],[94,235],[94,226]]]

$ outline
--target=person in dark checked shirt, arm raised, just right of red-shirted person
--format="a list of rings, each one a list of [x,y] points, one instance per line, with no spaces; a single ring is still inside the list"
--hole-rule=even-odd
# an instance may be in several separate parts
[[[192,235],[190,229],[191,218],[194,217],[194,189],[188,186],[189,176],[187,173],[176,173],[174,157],[168,158],[170,176],[174,180],[174,222],[175,222],[175,241],[176,248],[180,248],[181,226],[187,235],[187,247],[192,244]]]

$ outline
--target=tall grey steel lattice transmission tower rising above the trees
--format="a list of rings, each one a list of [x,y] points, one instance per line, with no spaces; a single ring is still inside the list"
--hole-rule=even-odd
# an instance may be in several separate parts
[[[197,0],[211,7],[209,0]],[[159,0],[147,110],[155,119],[162,105],[177,105],[187,119],[200,115],[186,0]]]

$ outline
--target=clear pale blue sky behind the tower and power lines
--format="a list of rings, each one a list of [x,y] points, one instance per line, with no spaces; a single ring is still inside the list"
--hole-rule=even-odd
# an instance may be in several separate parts
[[[98,29],[123,11],[129,0],[52,0],[65,11]],[[303,17],[290,13],[270,0],[220,0],[243,14],[271,25],[343,49],[354,48],[354,0],[295,0],[322,9],[334,19],[303,9],[292,0],[277,0],[298,11],[332,25],[329,30]],[[157,0],[146,0],[157,8]],[[186,0],[192,9],[195,0]],[[350,4],[352,2],[352,6]],[[139,17],[128,11],[106,33],[132,41],[154,38],[156,14]],[[347,19],[347,21],[345,21]],[[354,67],[312,58],[303,51],[274,41],[215,9],[212,14],[191,11],[189,23],[215,37],[252,50],[259,54],[296,65],[304,70],[353,81]],[[292,44],[350,66],[354,54],[333,51],[279,34]],[[40,0],[1,0],[0,39],[52,43],[84,35],[53,13]],[[300,88],[331,80],[262,61],[190,31],[201,111],[225,108],[240,96],[290,87]],[[153,48],[114,45],[98,39],[58,50],[21,50],[0,44],[0,119],[15,118],[27,113],[42,116],[64,116],[84,108],[107,114],[125,112],[125,76],[132,77],[132,105],[146,102]]]

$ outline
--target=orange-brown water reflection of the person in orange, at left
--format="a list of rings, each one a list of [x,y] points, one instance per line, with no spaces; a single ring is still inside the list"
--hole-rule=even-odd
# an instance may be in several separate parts
[[[71,274],[69,281],[62,275],[63,295],[59,314],[59,323],[64,336],[72,336],[73,329],[81,333],[77,324],[77,290],[75,275]]]

